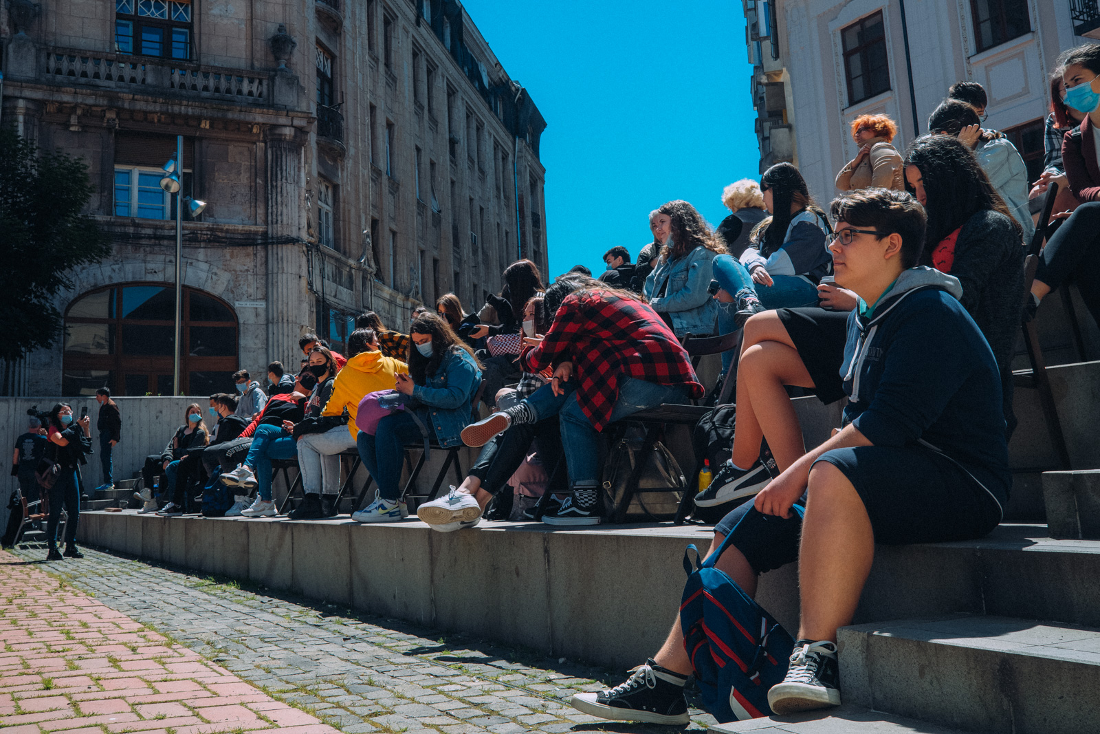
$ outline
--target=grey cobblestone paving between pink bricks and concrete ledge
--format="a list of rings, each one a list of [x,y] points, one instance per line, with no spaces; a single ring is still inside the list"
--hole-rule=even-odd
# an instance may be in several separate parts
[[[44,554],[16,552],[26,560]],[[576,691],[622,682],[622,671],[360,616],[113,554],[84,552],[84,560],[38,568],[348,734],[674,731],[596,720],[568,704]],[[693,708],[684,731],[713,723]]]

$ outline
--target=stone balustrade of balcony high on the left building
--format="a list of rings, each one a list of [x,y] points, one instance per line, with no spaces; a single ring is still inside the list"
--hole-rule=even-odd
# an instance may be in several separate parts
[[[268,105],[268,77],[256,72],[185,65],[129,54],[76,48],[42,52],[41,80],[129,94]]]

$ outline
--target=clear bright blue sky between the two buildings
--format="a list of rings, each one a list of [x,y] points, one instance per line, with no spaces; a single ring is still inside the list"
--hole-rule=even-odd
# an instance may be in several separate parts
[[[464,0],[542,134],[550,275],[604,270],[686,199],[717,226],[726,184],[758,177],[745,17],[736,0]]]

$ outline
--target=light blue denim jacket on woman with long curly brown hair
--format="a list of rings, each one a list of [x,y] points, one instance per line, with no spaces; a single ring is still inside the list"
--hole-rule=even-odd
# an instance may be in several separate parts
[[[668,314],[678,337],[685,333],[714,333],[718,303],[711,297],[714,252],[700,245],[680,260],[660,260],[646,278],[646,297],[658,314]],[[654,298],[668,281],[664,295]]]

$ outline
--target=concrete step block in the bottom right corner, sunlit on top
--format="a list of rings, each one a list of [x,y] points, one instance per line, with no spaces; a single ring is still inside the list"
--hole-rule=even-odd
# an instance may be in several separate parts
[[[838,644],[850,705],[970,732],[1093,734],[1100,723],[1100,629],[949,616],[846,627]]]

